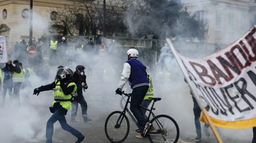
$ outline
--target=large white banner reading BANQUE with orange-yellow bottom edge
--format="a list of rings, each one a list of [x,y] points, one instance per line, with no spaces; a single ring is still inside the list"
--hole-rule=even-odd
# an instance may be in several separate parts
[[[256,26],[225,49],[202,59],[176,52],[183,74],[215,126],[256,126]],[[202,122],[206,122],[204,116]]]

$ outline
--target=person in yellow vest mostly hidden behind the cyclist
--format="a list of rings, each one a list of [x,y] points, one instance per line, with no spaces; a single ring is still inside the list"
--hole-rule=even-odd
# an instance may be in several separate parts
[[[153,82],[152,82],[152,79],[151,79],[151,76],[150,76],[150,67],[147,67],[146,69],[147,71],[147,74],[148,74],[148,80],[150,80],[150,84],[148,85],[148,91],[144,97],[144,100],[142,101],[141,103],[141,106],[142,107],[145,107],[145,108],[148,108],[148,106],[150,105],[151,103],[151,99],[149,99],[150,97],[154,97],[154,91],[153,91]],[[145,116],[145,118],[147,119],[147,115],[146,115],[146,110],[145,109],[141,109],[141,111],[143,112],[143,115]],[[154,131],[155,130],[155,127],[151,127],[150,131]],[[139,135],[136,135],[136,138],[143,138],[140,134]]]

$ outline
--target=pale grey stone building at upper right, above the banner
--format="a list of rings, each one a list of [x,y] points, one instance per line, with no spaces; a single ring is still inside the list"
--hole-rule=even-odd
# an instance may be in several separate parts
[[[191,14],[208,26],[207,42],[230,43],[240,38],[256,20],[256,0],[183,0]],[[256,23],[254,23],[256,24]]]

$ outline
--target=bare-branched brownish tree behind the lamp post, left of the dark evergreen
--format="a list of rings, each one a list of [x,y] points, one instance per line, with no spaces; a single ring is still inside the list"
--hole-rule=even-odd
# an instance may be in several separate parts
[[[123,23],[123,14],[130,6],[127,0],[112,0],[106,2],[106,35],[125,33],[127,28]],[[67,35],[95,35],[103,27],[103,3],[101,0],[73,0],[64,8],[54,9],[58,19],[53,25]]]

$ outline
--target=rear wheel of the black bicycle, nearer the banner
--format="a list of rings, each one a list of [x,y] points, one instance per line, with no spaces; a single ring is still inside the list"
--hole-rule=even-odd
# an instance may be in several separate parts
[[[151,131],[148,139],[151,143],[173,142],[179,140],[179,126],[176,121],[168,115],[158,115],[151,120],[156,130]]]

